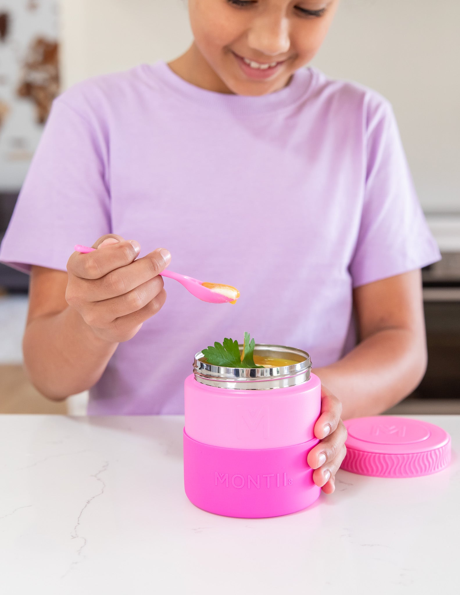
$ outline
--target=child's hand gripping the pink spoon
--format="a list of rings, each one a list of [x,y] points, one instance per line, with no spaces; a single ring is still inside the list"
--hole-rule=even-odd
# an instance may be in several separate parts
[[[65,299],[98,337],[127,341],[164,304],[159,273],[171,255],[161,248],[136,260],[139,244],[114,235],[100,237],[93,248],[68,259]]]

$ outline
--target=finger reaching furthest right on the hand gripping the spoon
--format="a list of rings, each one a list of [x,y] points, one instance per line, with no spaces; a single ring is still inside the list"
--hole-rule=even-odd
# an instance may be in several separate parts
[[[110,238],[109,238],[110,239]],[[101,279],[83,279],[82,295],[86,302],[100,302],[121,296],[157,277],[171,261],[165,248],[158,248],[142,258],[137,258],[126,267],[107,273]]]

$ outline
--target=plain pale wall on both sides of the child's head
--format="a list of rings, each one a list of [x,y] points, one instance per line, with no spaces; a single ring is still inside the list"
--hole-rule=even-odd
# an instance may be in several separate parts
[[[191,40],[184,0],[61,0],[65,84]],[[393,104],[425,211],[460,212],[460,1],[342,0],[314,61]]]

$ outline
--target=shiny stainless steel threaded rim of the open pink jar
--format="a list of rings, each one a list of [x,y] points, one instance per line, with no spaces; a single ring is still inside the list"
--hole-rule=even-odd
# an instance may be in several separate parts
[[[239,347],[242,351],[243,346]],[[284,345],[256,344],[254,355],[262,358],[290,359],[297,363],[273,368],[225,368],[208,364],[200,351],[195,355],[193,374],[202,384],[238,390],[279,389],[302,384],[310,378],[311,361],[306,351]]]

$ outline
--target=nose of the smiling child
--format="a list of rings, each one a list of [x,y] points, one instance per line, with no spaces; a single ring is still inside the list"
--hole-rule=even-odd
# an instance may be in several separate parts
[[[248,45],[268,56],[286,53],[290,48],[289,19],[280,14],[261,14],[252,21]]]

